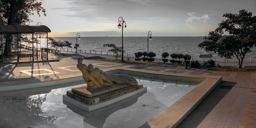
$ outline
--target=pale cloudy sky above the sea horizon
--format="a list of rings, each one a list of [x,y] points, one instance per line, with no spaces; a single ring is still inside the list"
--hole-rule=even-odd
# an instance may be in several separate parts
[[[28,25],[41,22],[49,37],[207,36],[225,13],[245,9],[256,16],[256,0],[43,0],[46,16],[32,15]]]

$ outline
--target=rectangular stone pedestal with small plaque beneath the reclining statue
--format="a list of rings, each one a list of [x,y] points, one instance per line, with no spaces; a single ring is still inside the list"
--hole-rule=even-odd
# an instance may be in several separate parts
[[[147,91],[143,85],[114,84],[110,87],[87,90],[87,86],[72,88],[63,95],[63,102],[68,102],[87,111],[108,106],[117,101],[143,94]]]

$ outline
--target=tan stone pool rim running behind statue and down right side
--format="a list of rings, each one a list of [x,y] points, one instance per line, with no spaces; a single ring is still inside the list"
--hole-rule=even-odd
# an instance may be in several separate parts
[[[141,126],[141,128],[176,128],[182,122],[182,120],[184,120],[222,81],[222,76],[176,74],[118,67],[106,69],[104,72],[114,74],[119,74],[119,72],[121,72],[124,74],[131,74],[132,76],[143,76],[142,74],[144,74],[144,77],[153,76],[154,78],[154,76],[158,76],[158,80],[167,80],[171,78],[171,82],[177,80],[182,84],[187,84],[190,82],[191,84],[197,85],[193,90],[185,94],[178,101],[150,119],[147,123]]]

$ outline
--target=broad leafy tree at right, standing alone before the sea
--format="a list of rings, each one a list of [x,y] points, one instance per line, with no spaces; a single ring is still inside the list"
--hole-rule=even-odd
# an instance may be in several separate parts
[[[256,16],[240,10],[239,14],[226,13],[223,17],[226,19],[218,24],[215,31],[209,32],[198,47],[207,52],[218,52],[222,58],[236,56],[240,68],[245,55],[256,45]]]

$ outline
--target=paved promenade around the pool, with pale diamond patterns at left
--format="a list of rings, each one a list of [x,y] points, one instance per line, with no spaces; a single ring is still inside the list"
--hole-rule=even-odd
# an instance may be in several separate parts
[[[99,56],[83,54],[84,56]],[[101,55],[104,58],[113,56]],[[13,85],[52,81],[81,76],[76,68],[78,56],[49,54],[48,62],[15,63],[3,60],[0,63],[0,91],[15,89]],[[127,59],[125,57],[125,59]],[[133,58],[130,58],[133,59]],[[162,60],[156,60],[160,62]],[[222,82],[209,94],[177,128],[255,128],[256,126],[256,72],[218,72],[190,70],[184,67],[166,68],[97,60],[84,60],[84,64],[107,69],[130,67],[180,74],[222,76]],[[216,62],[220,65],[236,66],[237,62]],[[256,66],[256,62],[244,62],[243,66]],[[33,74],[33,75],[32,75]],[[147,128],[148,126],[141,126]]]

